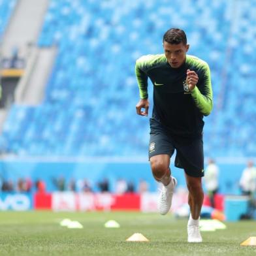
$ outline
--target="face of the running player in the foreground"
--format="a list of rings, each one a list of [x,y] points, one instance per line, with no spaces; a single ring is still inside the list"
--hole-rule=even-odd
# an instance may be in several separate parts
[[[189,50],[189,44],[185,45],[182,42],[180,42],[180,44],[170,44],[164,41],[163,50],[165,51],[165,57],[167,57],[170,67],[178,68],[185,61],[185,55],[187,50]]]

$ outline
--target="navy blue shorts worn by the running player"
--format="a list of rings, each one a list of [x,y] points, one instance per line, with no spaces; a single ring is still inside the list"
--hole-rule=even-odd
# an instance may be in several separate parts
[[[176,150],[174,165],[192,177],[204,176],[204,146],[202,136],[189,140],[168,135],[161,123],[150,119],[150,146],[148,156],[167,154]]]

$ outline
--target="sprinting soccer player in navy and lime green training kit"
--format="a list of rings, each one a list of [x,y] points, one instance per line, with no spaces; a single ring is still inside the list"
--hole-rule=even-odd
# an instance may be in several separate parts
[[[212,111],[212,86],[208,64],[187,55],[189,44],[182,29],[169,29],[163,36],[164,54],[142,56],[135,72],[140,91],[136,112],[148,116],[148,78],[153,83],[149,159],[153,177],[163,184],[158,210],[167,214],[177,185],[171,176],[170,157],[183,168],[189,191],[188,242],[202,242],[199,217],[204,193],[203,116]]]

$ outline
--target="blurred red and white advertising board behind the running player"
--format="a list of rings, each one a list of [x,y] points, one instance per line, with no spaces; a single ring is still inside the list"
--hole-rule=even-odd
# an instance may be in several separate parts
[[[187,205],[188,193],[185,189],[177,189],[172,198],[172,212],[176,212],[182,206]],[[54,211],[96,211],[96,210],[135,210],[142,212],[157,212],[157,200],[159,193],[127,193],[115,195],[111,193],[74,193],[55,192],[36,193],[34,207],[37,210],[48,209]],[[217,209],[223,210],[223,196],[216,196]],[[10,199],[2,199],[0,208],[7,208]],[[5,202],[5,204],[3,204]],[[13,204],[13,203],[12,203]],[[204,205],[208,205],[208,197],[205,196]],[[13,208],[13,207],[12,207]],[[15,208],[17,208],[15,206]]]

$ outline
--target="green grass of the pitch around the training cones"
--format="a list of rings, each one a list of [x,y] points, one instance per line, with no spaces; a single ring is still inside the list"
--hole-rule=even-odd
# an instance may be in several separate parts
[[[61,227],[62,219],[84,229]],[[114,219],[120,229],[106,229]],[[136,212],[0,212],[0,255],[256,255],[256,246],[240,243],[256,236],[256,221],[226,223],[227,229],[202,232],[202,244],[188,244],[187,220],[171,214]],[[125,242],[140,232],[150,242]]]

